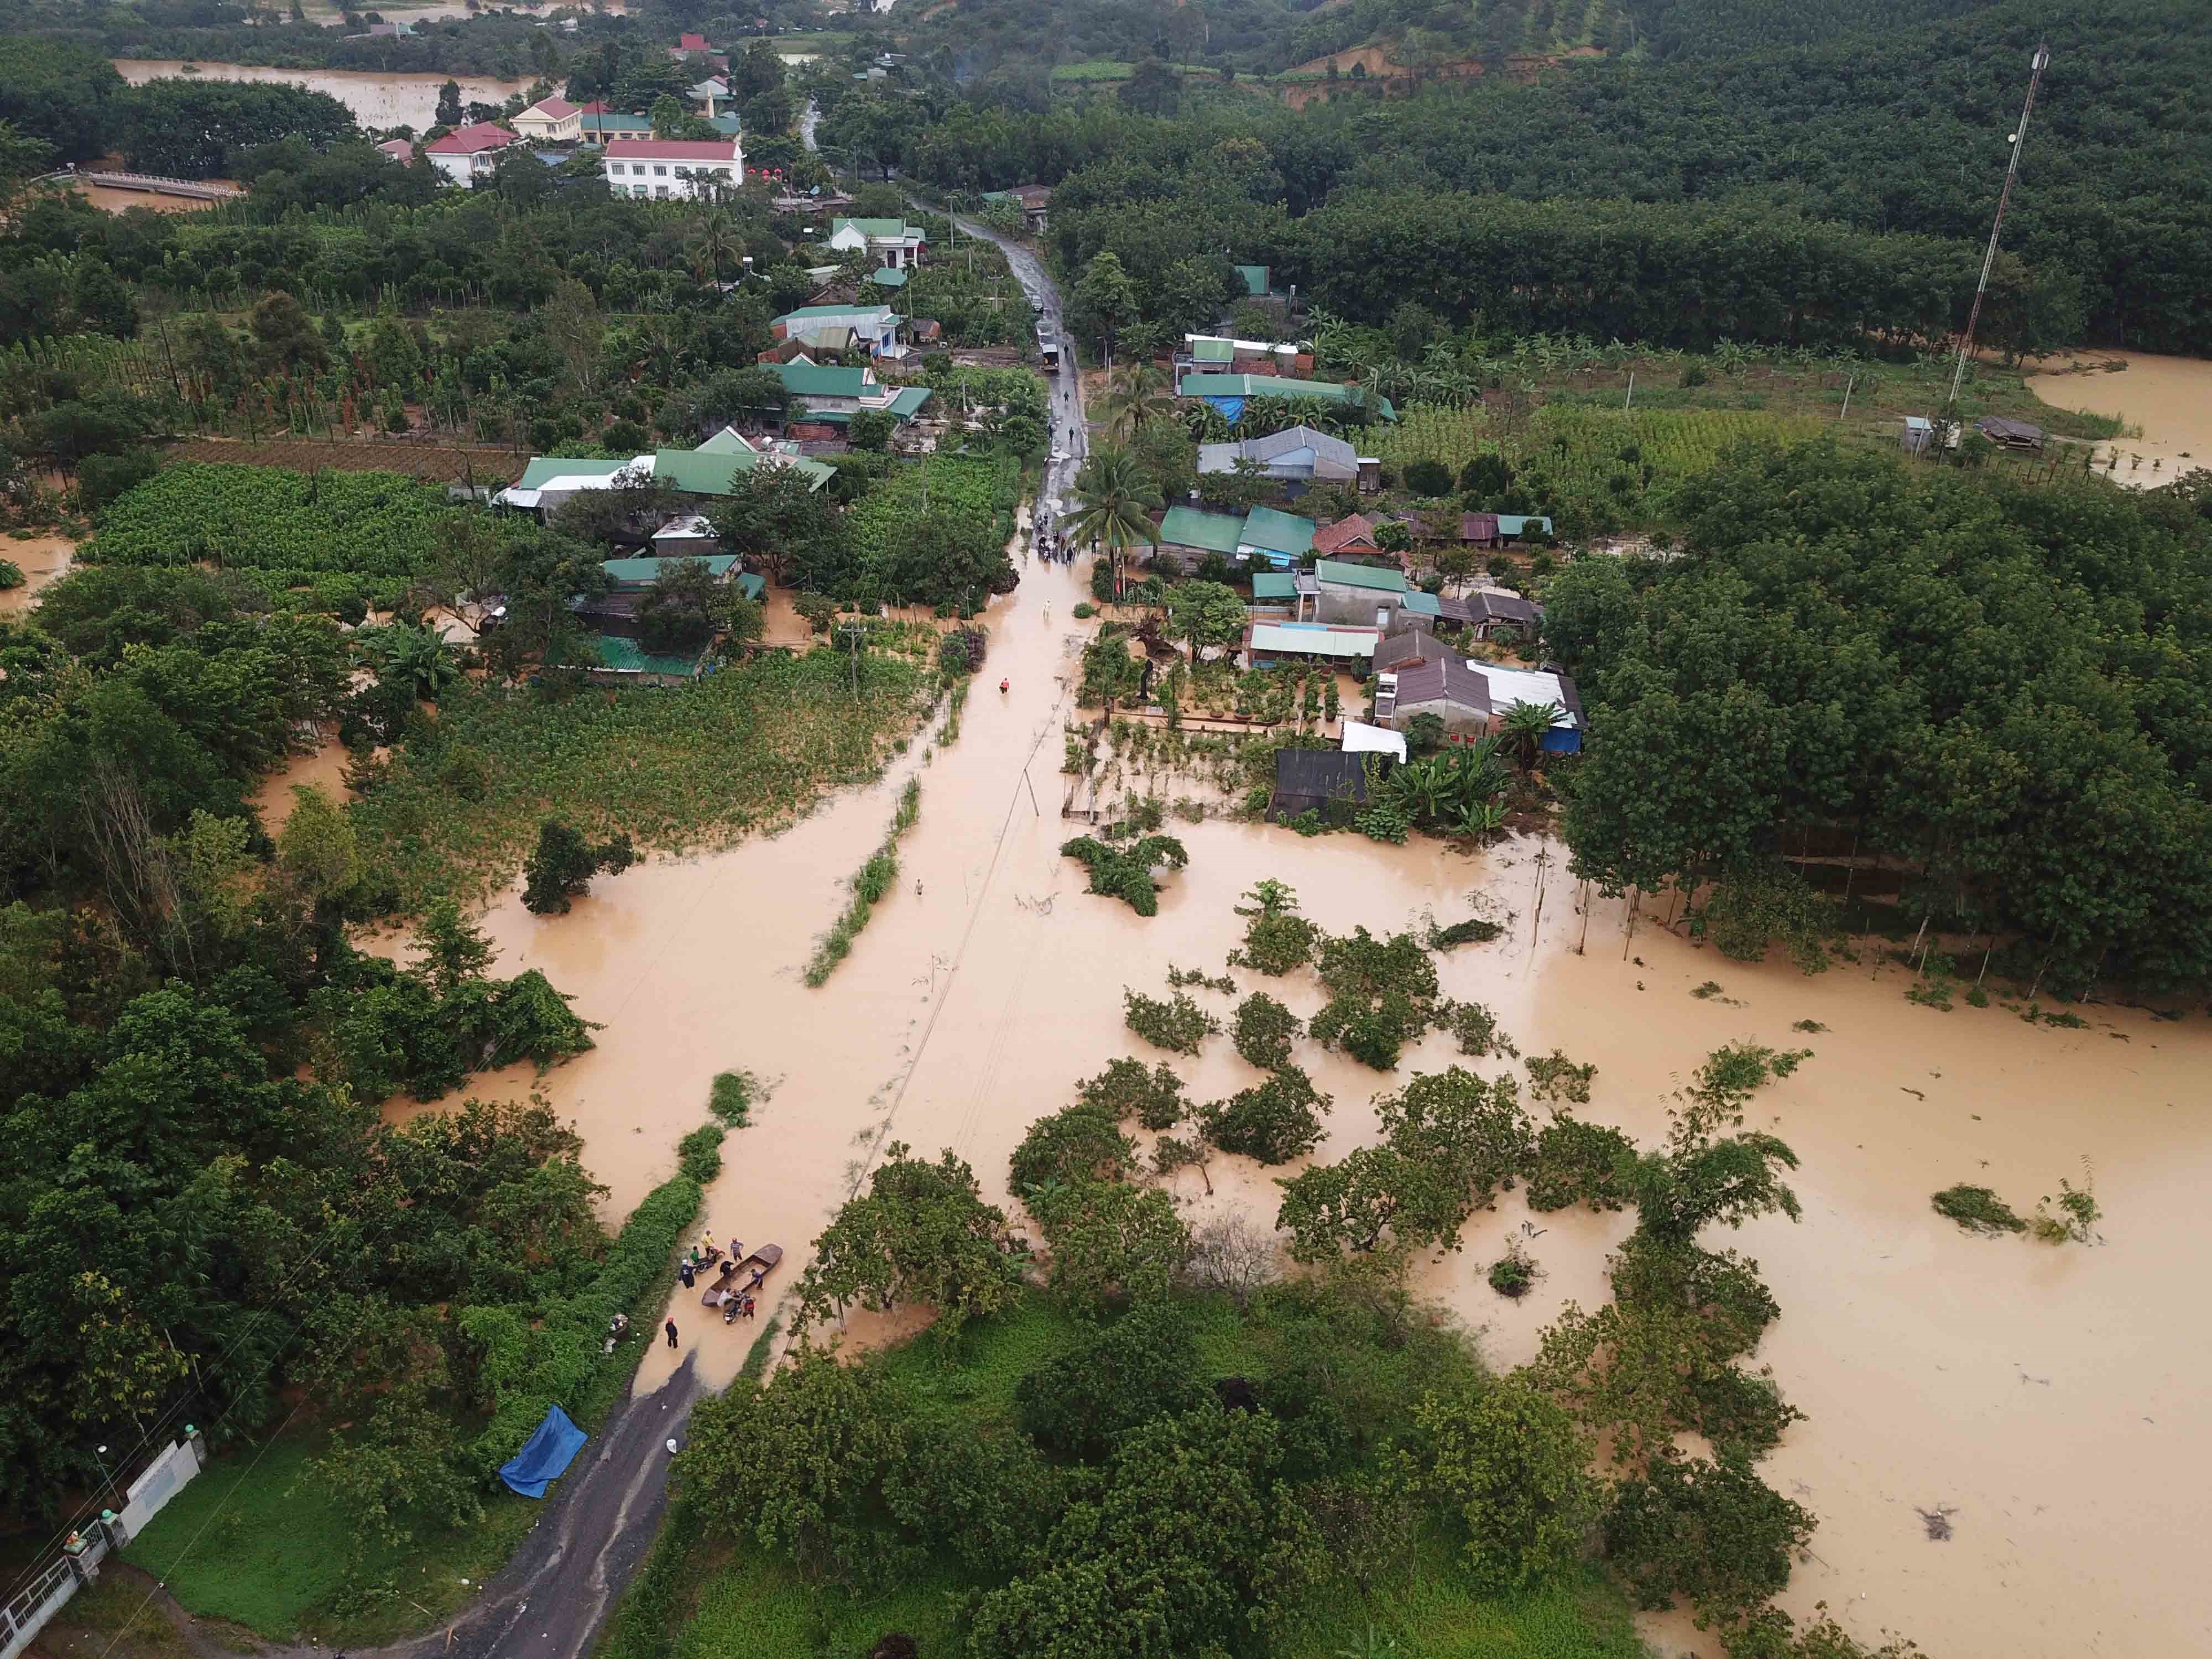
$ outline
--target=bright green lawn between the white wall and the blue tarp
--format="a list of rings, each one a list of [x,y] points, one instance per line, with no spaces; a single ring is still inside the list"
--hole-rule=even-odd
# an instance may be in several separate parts
[[[369,1646],[465,1606],[544,1513],[502,1491],[484,1502],[480,1526],[429,1533],[400,1551],[372,1546],[363,1579],[385,1590],[354,1606],[341,1595],[354,1531],[307,1467],[321,1449],[319,1433],[230,1447],[153,1517],[124,1559],[195,1615],[268,1641]]]

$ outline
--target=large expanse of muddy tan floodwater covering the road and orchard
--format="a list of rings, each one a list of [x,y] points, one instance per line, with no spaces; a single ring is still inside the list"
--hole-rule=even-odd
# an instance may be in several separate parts
[[[1955,1657],[2212,1652],[2194,1564],[2197,1471],[2212,1467],[2201,1015],[2086,1009],[2088,1029],[2057,1031],[1997,1006],[1938,1013],[1905,1000],[1900,971],[1869,978],[1871,962],[1818,978],[1754,969],[1652,920],[1624,951],[1617,900],[1595,905],[1577,953],[1586,918],[1564,860],[1528,841],[1471,856],[1433,841],[1170,823],[1190,869],[1141,920],[1084,894],[1082,869],[1057,854],[1079,832],[1060,821],[1057,772],[1079,597],[1075,573],[1031,566],[993,606],[991,657],[953,748],[925,761],[916,743],[883,781],[787,834],[641,865],[571,916],[533,918],[513,891],[493,905],[500,971],[544,969],[606,1026],[593,1053],[538,1086],[577,1121],[584,1159],[611,1188],[608,1219],[672,1175],[675,1139],[703,1121],[717,1071],[759,1073],[770,1093],[726,1141],[706,1221],[721,1241],[781,1243],[770,1292],[785,1292],[889,1141],[953,1148],[1006,1203],[1006,1155],[1029,1121],[1066,1104],[1077,1077],[1144,1053],[1121,1026],[1121,987],[1161,993],[1170,964],[1219,973],[1241,931],[1230,907],[1252,880],[1292,883],[1329,929],[1451,922],[1480,905],[1511,929],[1440,958],[1447,993],[1486,1002],[1526,1053],[1559,1046],[1595,1062],[1593,1119],[1650,1141],[1668,1091],[1710,1048],[1745,1037],[1812,1048],[1752,1115],[1803,1159],[1803,1223],[1710,1239],[1761,1263],[1783,1305],[1761,1360],[1809,1413],[1765,1464],[1820,1515],[1787,1606],[1825,1599],[1863,1637],[1891,1628]],[[898,885],[827,987],[807,991],[810,945],[909,774],[922,807]],[[1305,978],[1239,980],[1298,1013],[1318,1006]],[[1705,980],[1721,993],[1692,998]],[[1199,998],[1228,1013],[1225,998]],[[1827,1029],[1794,1031],[1801,1020]],[[1458,1060],[1449,1037],[1429,1037],[1385,1077],[1301,1048],[1336,1099],[1323,1157],[1374,1137],[1380,1088]],[[1256,1077],[1225,1035],[1177,1066],[1197,1099]],[[515,1071],[473,1093],[531,1084]],[[1973,1181],[2026,1212],[2059,1177],[2079,1181],[2084,1159],[2106,1212],[2095,1248],[1971,1239],[1929,1210],[1933,1190]],[[1212,1181],[1208,1199],[1199,1172],[1179,1177],[1192,1221],[1243,1210],[1272,1223],[1270,1172],[1219,1159]],[[1524,1221],[1544,1279],[1511,1305],[1484,1270]],[[1480,1329],[1495,1365],[1515,1365],[1566,1301],[1606,1296],[1604,1256],[1624,1232],[1619,1214],[1528,1217],[1506,1194],[1469,1223],[1464,1252],[1422,1265],[1418,1287]],[[695,1292],[670,1314],[710,1380],[737,1374],[757,1327],[723,1329]],[[885,1336],[858,1318],[852,1334]],[[641,1387],[672,1358],[655,1343]],[[1929,1537],[1922,1513],[1949,1520],[1949,1542]],[[1686,1619],[1650,1635],[1712,1652]]]

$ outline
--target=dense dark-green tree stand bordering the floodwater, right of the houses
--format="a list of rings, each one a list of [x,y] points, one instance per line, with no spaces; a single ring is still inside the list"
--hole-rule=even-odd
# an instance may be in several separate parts
[[[2212,984],[2212,515],[1825,445],[1739,451],[1677,507],[1681,557],[1546,588],[1606,734],[1568,792],[1579,874],[1719,883],[1790,931],[1840,869],[1781,860],[1856,847],[2022,984]]]

